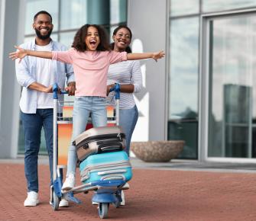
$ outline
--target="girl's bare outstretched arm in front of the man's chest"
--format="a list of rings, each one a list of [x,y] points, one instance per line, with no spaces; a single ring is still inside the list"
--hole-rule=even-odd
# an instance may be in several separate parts
[[[23,59],[25,56],[36,56],[43,59],[52,59],[52,53],[50,51],[35,51],[35,50],[24,50],[20,46],[15,46],[18,50],[9,53],[9,58],[12,60],[20,59],[19,62],[21,62],[21,59]]]

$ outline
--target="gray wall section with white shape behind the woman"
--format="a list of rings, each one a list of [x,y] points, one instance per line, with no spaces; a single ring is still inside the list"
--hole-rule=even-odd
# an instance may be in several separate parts
[[[146,6],[146,7],[145,7]],[[167,53],[167,1],[128,1],[128,27],[133,32],[133,52]],[[140,116],[133,140],[166,139],[166,61],[141,61],[144,89],[136,94]]]

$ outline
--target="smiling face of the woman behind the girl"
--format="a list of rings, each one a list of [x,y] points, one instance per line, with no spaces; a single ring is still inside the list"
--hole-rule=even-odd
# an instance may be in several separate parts
[[[125,27],[119,29],[112,38],[115,43],[114,50],[116,51],[125,51],[126,47],[131,43],[131,33]]]

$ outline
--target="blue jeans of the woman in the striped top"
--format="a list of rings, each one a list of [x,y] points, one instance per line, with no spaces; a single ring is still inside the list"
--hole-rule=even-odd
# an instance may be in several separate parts
[[[125,133],[125,152],[130,155],[131,136],[138,120],[138,109],[136,105],[131,109],[120,109],[120,126]]]

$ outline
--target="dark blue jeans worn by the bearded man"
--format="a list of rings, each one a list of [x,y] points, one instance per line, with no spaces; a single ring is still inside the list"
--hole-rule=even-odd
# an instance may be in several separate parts
[[[36,114],[24,114],[21,112],[21,120],[24,128],[24,171],[28,192],[38,192],[37,159],[42,127],[44,127],[49,155],[50,184],[53,183],[53,109],[37,109]]]

